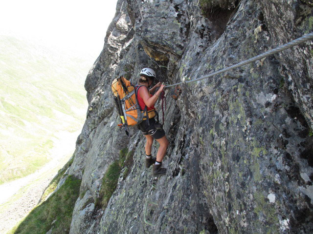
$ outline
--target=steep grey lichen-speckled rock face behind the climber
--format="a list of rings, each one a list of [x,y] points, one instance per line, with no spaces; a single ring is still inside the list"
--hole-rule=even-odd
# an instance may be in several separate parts
[[[111,91],[115,77],[136,83],[143,67],[177,83],[312,30],[312,0],[119,0],[85,83],[89,109],[68,172],[82,179],[70,233],[313,233],[312,41],[182,84],[179,98],[167,89],[170,146],[158,179],[145,169],[142,134],[118,129]],[[101,206],[102,178],[123,148],[133,164]]]

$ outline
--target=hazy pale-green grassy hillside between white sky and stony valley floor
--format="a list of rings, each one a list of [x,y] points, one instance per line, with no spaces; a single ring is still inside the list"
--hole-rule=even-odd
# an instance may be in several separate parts
[[[82,128],[92,63],[8,36],[0,51],[1,184],[48,162],[58,132]]]

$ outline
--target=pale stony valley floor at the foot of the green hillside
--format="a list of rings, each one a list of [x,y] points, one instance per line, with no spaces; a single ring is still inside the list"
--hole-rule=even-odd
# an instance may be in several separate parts
[[[73,154],[79,133],[57,133],[56,147],[49,152],[52,159],[44,167],[33,174],[0,185],[0,191],[5,191],[0,194],[1,234],[10,231],[38,204],[45,188]]]

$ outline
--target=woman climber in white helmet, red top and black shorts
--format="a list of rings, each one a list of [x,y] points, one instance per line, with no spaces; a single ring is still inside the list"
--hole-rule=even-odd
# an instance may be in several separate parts
[[[160,176],[166,173],[166,168],[162,167],[162,160],[166,154],[169,142],[165,136],[162,125],[158,122],[158,119],[156,119],[157,113],[154,106],[162,90],[164,89],[164,85],[161,82],[158,82],[153,88],[148,90],[148,87],[152,85],[154,78],[156,78],[156,73],[153,69],[143,68],[140,72],[139,85],[136,86],[136,89],[137,99],[141,110],[144,110],[145,106],[147,106],[147,111],[149,114],[149,121],[143,120],[139,124],[141,132],[147,139],[145,146],[146,168],[149,168],[151,165],[153,165],[152,174],[154,176]],[[157,87],[160,87],[159,90],[157,90],[156,93],[152,95]],[[151,148],[154,139],[160,143],[156,158],[151,156]]]

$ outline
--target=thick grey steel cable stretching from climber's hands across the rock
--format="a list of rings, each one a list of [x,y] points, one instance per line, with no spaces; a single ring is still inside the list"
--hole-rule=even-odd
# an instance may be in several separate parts
[[[265,52],[265,53],[263,53],[263,54],[260,54],[260,55],[258,55],[258,56],[253,57],[253,58],[244,60],[244,61],[242,61],[242,62],[240,62],[240,63],[237,63],[237,64],[235,64],[235,65],[232,65],[232,66],[230,66],[230,67],[224,68],[224,69],[222,69],[222,70],[220,70],[220,71],[211,73],[211,74],[209,74],[209,75],[206,75],[206,76],[203,76],[203,77],[197,78],[197,79],[192,79],[192,80],[185,80],[185,79],[184,79],[183,81],[181,81],[181,82],[179,82],[179,83],[172,84],[172,85],[167,85],[167,86],[165,86],[165,88],[170,88],[170,87],[173,87],[173,86],[176,86],[176,85],[179,85],[179,84],[191,83],[191,82],[195,82],[195,81],[198,81],[198,80],[201,80],[201,79],[210,78],[210,77],[213,77],[213,76],[215,76],[215,75],[221,74],[221,73],[223,73],[223,72],[227,72],[227,71],[229,71],[229,70],[235,69],[235,68],[237,68],[237,67],[244,66],[244,65],[246,65],[246,64],[248,64],[248,63],[251,63],[251,62],[254,62],[254,61],[257,61],[257,60],[266,58],[266,57],[271,56],[271,55],[273,55],[273,54],[276,54],[276,53],[278,53],[278,52],[287,50],[287,49],[289,49],[289,48],[291,48],[291,47],[293,47],[293,46],[295,46],[295,45],[298,45],[298,44],[300,44],[300,43],[303,43],[303,42],[305,42],[305,41],[312,40],[312,39],[313,39],[313,33],[309,33],[309,34],[307,34],[307,35],[305,35],[305,36],[302,36],[301,38],[292,40],[292,41],[290,41],[290,42],[288,42],[288,43],[286,43],[286,44],[284,44],[284,45],[278,46],[278,47],[275,48],[275,49],[271,49],[271,50],[269,50],[269,51],[267,51],[267,52]]]

